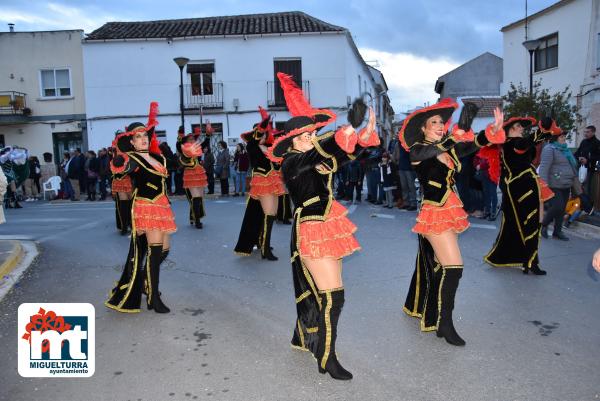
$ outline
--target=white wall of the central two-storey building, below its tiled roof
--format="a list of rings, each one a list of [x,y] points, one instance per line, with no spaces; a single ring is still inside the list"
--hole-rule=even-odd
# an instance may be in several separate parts
[[[358,95],[358,71],[370,77],[350,50],[344,34],[285,35],[210,38],[194,40],[85,42],[83,45],[88,138],[90,149],[107,146],[114,131],[132,121],[146,119],[151,101],[160,105],[159,129],[167,131],[171,146],[179,119],[179,69],[174,57],[192,61],[214,60],[216,82],[223,83],[224,109],[205,111],[204,119],[223,124],[223,135],[239,137],[260,120],[258,106],[267,106],[267,81],[273,81],[273,59],[299,57],[302,80],[310,81],[310,100],[315,107],[345,108],[346,97]],[[184,84],[189,84],[184,69]],[[349,82],[354,86],[349,85]],[[237,112],[233,99],[239,99]],[[226,116],[227,113],[228,115]],[[276,121],[287,112],[273,112]],[[346,120],[338,113],[338,123]],[[198,116],[186,115],[186,129]]]

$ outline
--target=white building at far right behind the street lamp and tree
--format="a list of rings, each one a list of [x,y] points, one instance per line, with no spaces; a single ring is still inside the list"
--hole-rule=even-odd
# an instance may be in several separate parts
[[[600,128],[600,2],[562,0],[501,29],[504,82],[529,87],[529,53],[525,40],[538,39],[533,57],[533,80],[551,93],[570,88],[581,107],[582,124]],[[527,22],[527,25],[526,25]],[[527,26],[527,29],[526,29]]]

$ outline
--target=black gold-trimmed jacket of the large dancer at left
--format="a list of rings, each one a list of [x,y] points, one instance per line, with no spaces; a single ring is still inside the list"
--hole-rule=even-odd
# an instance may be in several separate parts
[[[122,175],[133,178],[133,196],[154,202],[160,195],[165,195],[166,174],[157,171],[149,162],[136,152],[127,152],[129,160],[125,164]],[[166,159],[162,155],[150,153],[150,156],[167,168]]]

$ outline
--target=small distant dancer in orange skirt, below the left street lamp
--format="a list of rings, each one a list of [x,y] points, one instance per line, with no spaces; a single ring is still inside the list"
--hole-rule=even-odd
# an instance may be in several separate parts
[[[198,143],[200,128],[194,129],[193,134],[180,136],[177,142],[179,150],[179,164],[183,167],[183,188],[190,203],[190,224],[202,228],[201,219],[206,215],[204,211],[204,188],[208,185],[206,171],[198,158],[202,156],[201,146]]]

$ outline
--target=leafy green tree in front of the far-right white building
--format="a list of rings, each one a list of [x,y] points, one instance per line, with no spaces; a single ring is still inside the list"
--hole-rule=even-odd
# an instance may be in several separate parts
[[[531,116],[539,120],[549,115],[563,130],[570,131],[575,128],[580,122],[581,116],[579,108],[569,103],[572,98],[569,87],[550,94],[549,89],[542,89],[541,86],[541,82],[536,81],[531,96],[529,96],[529,90],[523,84],[519,83],[518,86],[515,86],[511,83],[508,93],[502,96],[505,118]]]

